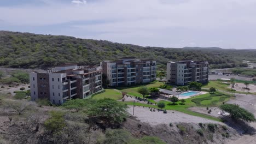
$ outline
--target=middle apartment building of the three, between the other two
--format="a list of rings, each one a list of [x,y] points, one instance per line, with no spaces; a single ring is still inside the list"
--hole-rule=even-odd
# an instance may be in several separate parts
[[[156,80],[156,61],[124,57],[101,62],[109,86],[131,86]]]

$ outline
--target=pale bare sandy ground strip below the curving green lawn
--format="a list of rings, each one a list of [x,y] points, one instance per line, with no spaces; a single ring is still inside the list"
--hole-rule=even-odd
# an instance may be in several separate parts
[[[131,115],[133,112],[133,107],[129,106],[127,110]],[[149,123],[150,125],[158,124],[170,124],[170,123],[219,123],[220,122],[212,121],[210,119],[205,119],[201,117],[187,115],[178,111],[167,110],[167,113],[162,111],[150,111],[148,107],[135,107],[135,117],[141,121]]]

